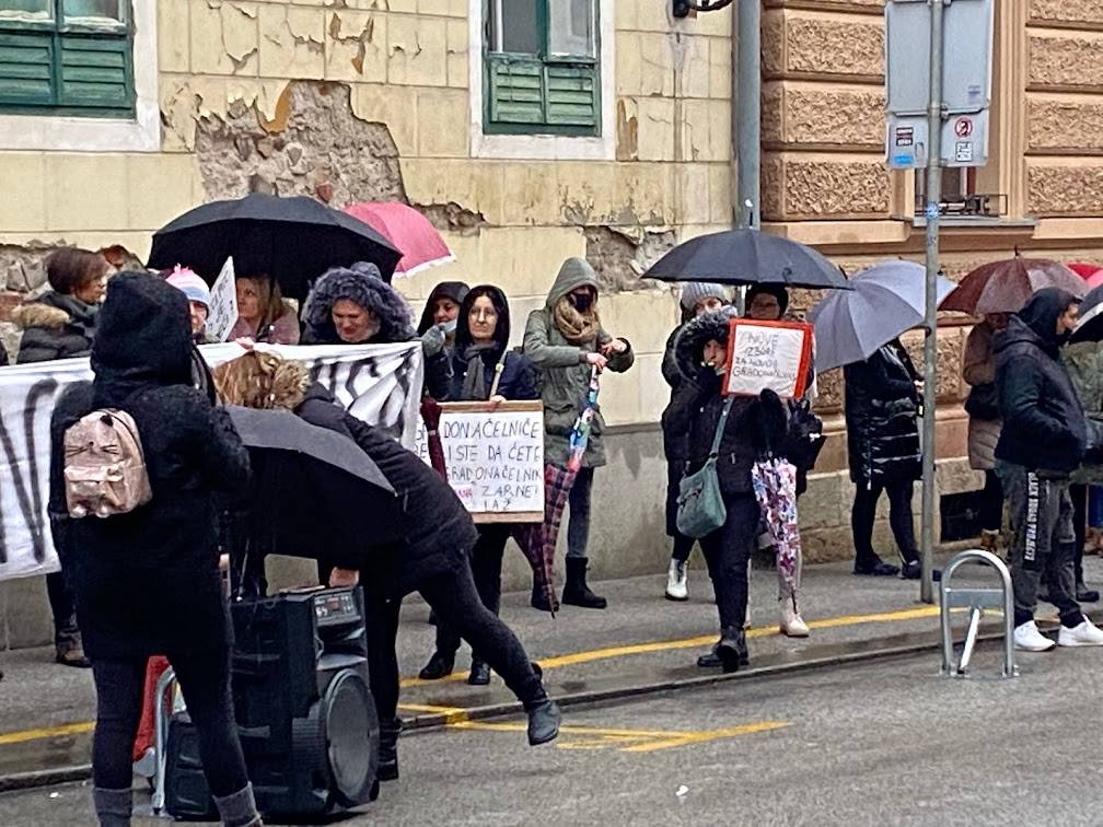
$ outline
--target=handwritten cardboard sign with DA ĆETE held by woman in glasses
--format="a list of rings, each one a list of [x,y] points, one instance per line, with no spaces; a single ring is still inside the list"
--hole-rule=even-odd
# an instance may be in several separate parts
[[[446,402],[440,441],[448,482],[475,523],[544,520],[544,406]],[[418,454],[428,464],[422,426]]]

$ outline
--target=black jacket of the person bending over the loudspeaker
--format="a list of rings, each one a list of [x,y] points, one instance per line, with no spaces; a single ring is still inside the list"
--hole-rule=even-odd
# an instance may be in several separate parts
[[[401,502],[405,539],[373,555],[363,577],[383,579],[395,597],[417,591],[426,580],[467,565],[479,535],[463,503],[417,454],[334,405],[319,385],[311,386],[296,414],[311,425],[344,433],[387,477]],[[350,518],[356,518],[350,515]],[[364,526],[371,540],[371,526]]]

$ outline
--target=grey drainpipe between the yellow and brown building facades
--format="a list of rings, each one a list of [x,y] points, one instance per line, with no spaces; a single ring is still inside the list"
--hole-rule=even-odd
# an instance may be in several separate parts
[[[739,136],[739,185],[736,215],[740,227],[759,228],[761,187],[761,115],[762,115],[762,0],[741,0],[736,22],[739,43],[736,82],[737,121]]]

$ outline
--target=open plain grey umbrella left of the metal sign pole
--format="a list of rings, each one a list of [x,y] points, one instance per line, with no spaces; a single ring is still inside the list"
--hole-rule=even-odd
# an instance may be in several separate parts
[[[815,325],[816,370],[867,359],[878,347],[925,320],[927,270],[914,261],[886,261],[850,279],[808,313]],[[954,282],[939,277],[938,299]]]

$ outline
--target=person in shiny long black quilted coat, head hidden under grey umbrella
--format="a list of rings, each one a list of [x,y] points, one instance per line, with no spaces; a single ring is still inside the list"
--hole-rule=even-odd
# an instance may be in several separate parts
[[[921,576],[912,526],[911,495],[922,474],[919,406],[922,383],[908,352],[895,339],[865,362],[843,368],[846,380],[846,439],[850,480],[856,485],[850,527],[854,573],[892,577],[901,572],[874,551],[877,501],[889,495],[889,523],[903,560],[902,577]]]

